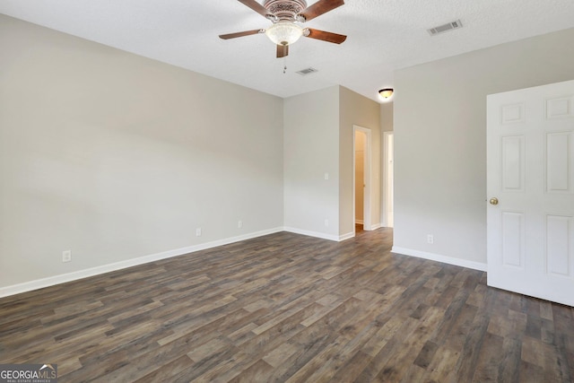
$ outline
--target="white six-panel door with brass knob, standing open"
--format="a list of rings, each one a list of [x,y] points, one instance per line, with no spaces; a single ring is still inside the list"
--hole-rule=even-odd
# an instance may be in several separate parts
[[[574,81],[487,112],[488,284],[574,306]]]

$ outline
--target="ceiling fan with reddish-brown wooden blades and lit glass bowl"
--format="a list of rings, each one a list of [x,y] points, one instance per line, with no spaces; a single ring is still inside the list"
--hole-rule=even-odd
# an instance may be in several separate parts
[[[235,39],[243,36],[265,33],[277,45],[277,57],[289,55],[289,46],[300,39],[301,36],[320,39],[335,44],[341,44],[346,36],[324,30],[302,28],[300,23],[333,11],[344,4],[344,0],[318,0],[317,3],[307,6],[305,0],[265,0],[259,4],[256,0],[239,0],[255,12],[273,22],[266,30],[245,30],[242,32],[220,35],[221,39]]]

